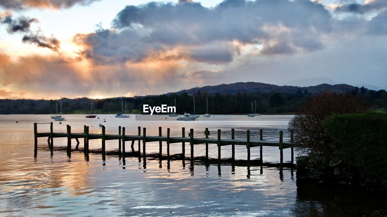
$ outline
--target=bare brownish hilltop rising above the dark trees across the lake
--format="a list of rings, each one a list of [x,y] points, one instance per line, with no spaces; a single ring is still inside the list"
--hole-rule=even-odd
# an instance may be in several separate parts
[[[320,90],[324,90],[325,88],[330,88],[332,90],[338,90],[338,91],[351,91],[355,87],[351,85],[346,84],[338,84],[338,85],[329,85],[329,84],[320,84],[316,86],[308,86],[303,87],[302,89],[307,89],[309,93],[318,92]],[[300,89],[299,86],[278,86],[278,85],[271,85],[271,84],[265,84],[260,82],[237,82],[232,84],[221,84],[221,85],[215,85],[215,86],[203,86],[203,87],[195,87],[188,90],[180,90],[178,92],[173,93],[167,93],[167,95],[171,94],[182,94],[184,92],[188,93],[189,95],[192,95],[194,93],[197,93],[198,91],[203,92],[207,91],[208,93],[237,93],[238,91],[241,92],[261,92],[261,93],[268,93],[268,92],[281,92],[281,93],[295,93],[298,89]],[[366,89],[368,92],[368,89]]]

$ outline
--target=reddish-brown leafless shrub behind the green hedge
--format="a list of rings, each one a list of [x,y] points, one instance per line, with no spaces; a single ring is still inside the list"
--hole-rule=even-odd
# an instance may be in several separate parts
[[[324,155],[332,153],[330,138],[324,134],[322,120],[328,115],[362,113],[368,109],[363,98],[349,92],[339,93],[323,90],[314,95],[300,108],[289,122],[289,130],[294,131],[296,149],[301,154]]]

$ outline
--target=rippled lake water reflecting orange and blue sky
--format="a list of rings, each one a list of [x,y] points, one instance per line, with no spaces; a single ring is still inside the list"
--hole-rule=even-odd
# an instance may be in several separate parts
[[[117,134],[118,126],[126,134],[137,134],[137,127],[146,127],[147,135],[158,135],[158,127],[167,128],[171,136],[186,135],[190,128],[197,137],[204,137],[208,127],[210,137],[245,138],[246,130],[252,139],[278,140],[292,115],[216,115],[197,121],[176,121],[176,117],[144,117],[147,120],[114,118],[98,115],[100,119],[86,119],[84,115],[65,115],[66,121],[54,122],[54,132],[65,132],[66,124],[72,132],[82,132],[83,125],[91,133],[101,133],[98,124],[106,126],[106,133]],[[103,122],[104,119],[106,122]],[[265,164],[247,168],[244,164],[205,161],[205,146],[195,145],[193,168],[180,158],[181,143],[171,144],[172,160],[158,157],[159,144],[147,143],[146,164],[138,158],[130,145],[130,157],[125,162],[116,155],[118,141],[106,141],[106,159],[99,153],[101,140],[91,140],[88,160],[83,153],[83,139],[76,147],[72,142],[71,157],[67,156],[67,139],[55,138],[51,154],[46,138],[38,139],[37,158],[34,158],[33,122],[50,122],[50,115],[0,115],[0,216],[362,216],[385,208],[383,195],[297,186],[296,171],[285,167],[279,170],[276,147],[264,147]],[[15,123],[18,121],[19,123]],[[39,124],[39,132],[49,132],[49,124]],[[130,142],[127,142],[127,144]],[[189,144],[186,146],[189,157]],[[163,144],[166,153],[166,144]],[[236,146],[235,158],[246,159],[245,147]],[[209,157],[217,158],[216,145],[209,145]],[[222,147],[222,157],[231,157],[231,146]],[[252,148],[252,159],[259,158],[259,147]],[[290,150],[284,149],[284,161],[290,161]]]

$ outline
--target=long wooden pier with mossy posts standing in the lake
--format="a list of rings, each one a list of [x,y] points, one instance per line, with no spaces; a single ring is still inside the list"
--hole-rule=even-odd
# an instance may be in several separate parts
[[[50,124],[50,132],[38,132],[38,124]],[[84,132],[82,133],[73,133],[71,132],[71,126],[67,125],[67,132],[53,132],[53,122],[50,123],[34,123],[34,147],[35,151],[38,148],[38,137],[48,137],[47,141],[50,144],[51,150],[53,149],[53,138],[57,137],[67,137],[67,152],[71,154],[71,139],[75,139],[77,144],[79,144],[79,138],[84,139],[84,152],[89,152],[89,140],[91,139],[101,139],[101,149],[103,159],[105,158],[105,141],[106,140],[118,140],[118,151],[125,157],[125,142],[131,141],[131,147],[133,149],[135,141],[138,141],[138,149],[140,152],[141,141],[142,141],[142,156],[144,161],[146,159],[146,142],[159,142],[159,154],[162,154],[162,142],[167,144],[167,157],[170,156],[170,144],[173,143],[182,143],[182,154],[185,155],[185,142],[190,144],[190,159],[194,159],[194,147],[196,144],[205,144],[205,155],[208,158],[208,145],[216,144],[218,147],[218,162],[221,162],[221,146],[231,145],[231,159],[235,159],[235,146],[245,146],[247,149],[247,165],[250,162],[250,148],[260,147],[260,161],[262,163],[262,147],[263,146],[273,146],[279,148],[279,158],[281,164],[283,163],[283,149],[291,148],[291,163],[293,164],[293,132],[291,131],[291,139],[289,142],[283,142],[283,131],[279,131],[279,140],[278,141],[267,141],[263,139],[263,130],[260,130],[260,139],[250,139],[250,130],[246,132],[246,139],[235,139],[235,131],[231,129],[231,139],[222,139],[221,130],[217,130],[217,138],[209,138],[208,128],[204,131],[205,137],[199,138],[194,137],[194,129],[190,129],[188,137],[185,137],[185,128],[182,128],[182,137],[170,137],[170,129],[167,129],[167,135],[162,136],[161,127],[159,127],[158,136],[148,136],[146,135],[146,128],[142,129],[141,136],[141,127],[138,127],[138,135],[126,135],[125,127],[118,127],[118,134],[105,134],[105,126],[102,126],[102,134],[89,134],[89,126],[84,125]]]

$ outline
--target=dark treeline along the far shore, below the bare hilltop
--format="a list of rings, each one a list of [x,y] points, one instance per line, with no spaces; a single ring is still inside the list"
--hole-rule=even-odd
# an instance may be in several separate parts
[[[364,97],[369,102],[372,108],[386,109],[387,108],[387,92],[385,90],[366,91],[365,88],[355,88],[351,91],[352,95]],[[142,111],[142,105],[168,106],[175,105],[176,112],[179,114],[194,113],[194,97],[195,97],[195,113],[206,113],[206,99],[208,99],[208,111],[210,114],[247,114],[251,112],[251,102],[256,100],[260,113],[293,113],[304,105],[312,96],[306,88],[300,88],[295,93],[246,93],[237,92],[229,93],[207,93],[197,92],[195,95],[182,93],[180,95],[156,95],[145,97],[122,97],[122,98],[106,98],[92,100],[97,113],[118,113],[121,112],[122,100],[125,107],[127,104],[128,110]],[[0,99],[0,114],[55,114],[56,104],[60,110],[60,100],[31,100],[31,99]],[[125,109],[125,108],[124,108]],[[63,114],[86,114],[90,113],[91,99],[62,99]]]

